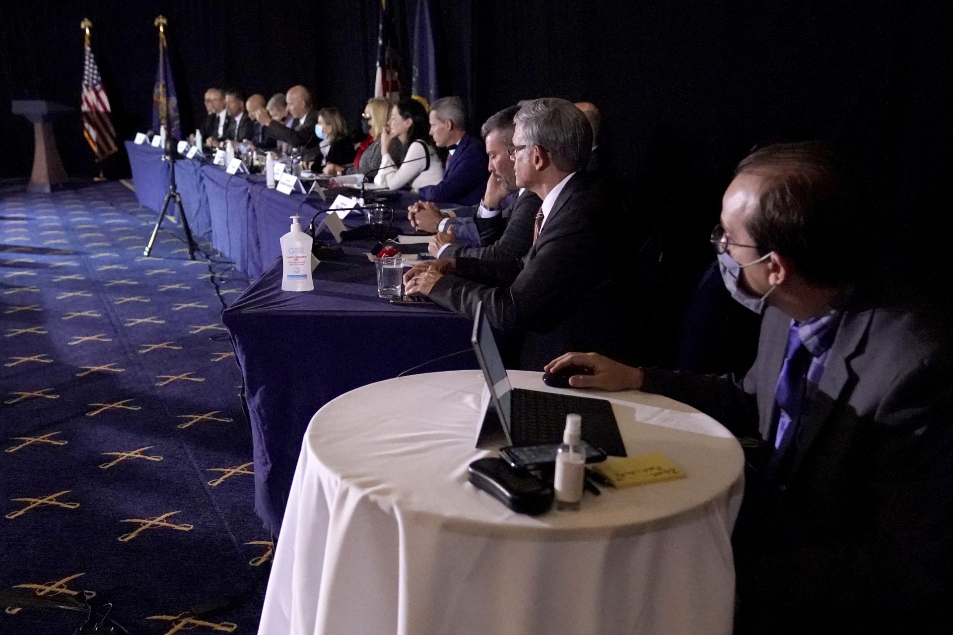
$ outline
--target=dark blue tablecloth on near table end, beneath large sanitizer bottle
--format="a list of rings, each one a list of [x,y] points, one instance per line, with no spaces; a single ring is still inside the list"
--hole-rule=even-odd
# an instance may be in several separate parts
[[[282,291],[281,272],[279,259],[222,313],[251,418],[255,509],[274,535],[314,412],[348,390],[468,349],[472,329],[435,306],[378,298],[374,265],[363,255],[322,261],[311,292]],[[462,367],[476,367],[472,352],[419,372]]]

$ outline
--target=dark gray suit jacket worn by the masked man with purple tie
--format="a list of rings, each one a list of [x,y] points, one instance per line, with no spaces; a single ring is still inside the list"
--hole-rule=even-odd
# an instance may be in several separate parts
[[[852,297],[783,471],[764,469],[791,324],[780,310],[743,378],[645,369],[644,390],[760,439],[735,531],[739,619],[760,632],[807,632],[828,613],[849,632],[905,629],[951,594],[951,349],[903,303]]]

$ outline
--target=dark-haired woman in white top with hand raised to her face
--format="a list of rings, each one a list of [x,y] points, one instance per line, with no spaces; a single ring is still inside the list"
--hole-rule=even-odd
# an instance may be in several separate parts
[[[430,139],[427,110],[420,102],[404,99],[391,109],[391,118],[380,135],[381,148],[390,148],[392,139],[399,139],[406,149],[404,160],[398,169],[394,157],[385,152],[380,158],[375,184],[388,189],[400,189],[406,185],[419,189],[440,182],[443,165]]]

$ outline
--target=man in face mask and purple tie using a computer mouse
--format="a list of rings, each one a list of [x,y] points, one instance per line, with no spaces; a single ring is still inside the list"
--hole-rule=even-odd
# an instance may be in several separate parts
[[[821,144],[740,163],[712,243],[732,296],[764,311],[744,377],[593,353],[547,365],[592,373],[573,387],[666,395],[760,442],[734,533],[737,633],[934,632],[949,617],[953,357],[928,311],[860,275],[846,184]]]

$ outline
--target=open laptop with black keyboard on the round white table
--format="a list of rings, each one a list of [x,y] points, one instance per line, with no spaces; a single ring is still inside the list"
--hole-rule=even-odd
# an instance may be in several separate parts
[[[477,435],[477,446],[485,445],[498,429],[511,446],[560,443],[566,415],[575,413],[582,417],[584,440],[601,447],[606,454],[626,456],[616,414],[607,399],[511,386],[490,323],[483,315],[482,303],[476,308],[471,343],[490,390],[490,407]]]

